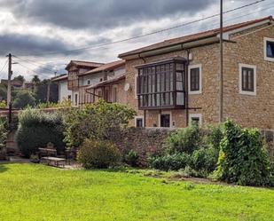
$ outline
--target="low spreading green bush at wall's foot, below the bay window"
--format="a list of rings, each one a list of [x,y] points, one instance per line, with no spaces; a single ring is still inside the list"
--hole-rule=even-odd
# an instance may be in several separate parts
[[[188,154],[167,154],[150,159],[150,165],[157,170],[180,170],[184,169],[190,162]]]

